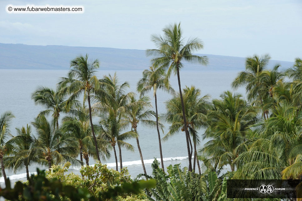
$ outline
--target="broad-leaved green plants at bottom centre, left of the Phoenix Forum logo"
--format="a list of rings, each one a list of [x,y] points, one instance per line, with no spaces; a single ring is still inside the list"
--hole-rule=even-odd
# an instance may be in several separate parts
[[[156,180],[155,188],[147,190],[152,197],[149,200],[190,200],[190,201],[230,201],[226,198],[227,173],[223,178],[218,178],[216,172],[197,174],[189,172],[187,167],[180,168],[180,164],[169,165],[167,173],[159,168],[159,163],[154,159],[152,163],[152,177]],[[155,199],[153,199],[155,198]]]

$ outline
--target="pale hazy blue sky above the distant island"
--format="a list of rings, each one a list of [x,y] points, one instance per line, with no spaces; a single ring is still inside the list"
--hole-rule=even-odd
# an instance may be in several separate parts
[[[83,5],[85,13],[8,14],[7,4]],[[0,9],[0,43],[147,49],[151,34],[181,22],[186,37],[203,40],[198,53],[302,57],[302,0],[1,0]]]

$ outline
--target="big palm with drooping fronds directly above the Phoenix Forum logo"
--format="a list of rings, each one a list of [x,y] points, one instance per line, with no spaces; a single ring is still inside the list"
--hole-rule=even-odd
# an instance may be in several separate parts
[[[239,179],[300,178],[302,112],[282,100],[272,116],[256,125],[257,138],[233,163]]]

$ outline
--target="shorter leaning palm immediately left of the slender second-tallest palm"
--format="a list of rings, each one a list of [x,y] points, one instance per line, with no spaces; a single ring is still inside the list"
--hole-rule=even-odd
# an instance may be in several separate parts
[[[149,102],[149,100],[150,98],[147,96],[140,97],[137,100],[135,95],[132,94],[130,96],[129,108],[124,113],[125,121],[131,125],[131,131],[133,130],[134,133],[137,134],[136,135],[137,148],[139,150],[139,156],[142,162],[142,166],[146,178],[147,178],[147,172],[144,164],[142,150],[139,146],[139,135],[137,132],[137,126],[139,123],[144,126],[149,126],[151,128],[156,126],[156,122],[151,120],[151,118],[154,116],[154,112],[148,109],[151,107],[151,103]]]

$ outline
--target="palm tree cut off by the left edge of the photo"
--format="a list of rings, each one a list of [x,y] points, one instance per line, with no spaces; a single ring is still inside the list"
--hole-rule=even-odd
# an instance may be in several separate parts
[[[6,111],[0,116],[0,163],[5,184],[7,183],[7,178],[4,169],[3,157],[6,155],[7,152],[7,146],[5,144],[5,141],[7,139],[7,136],[11,135],[9,126],[12,121],[12,118],[14,118],[14,115],[10,111]]]

